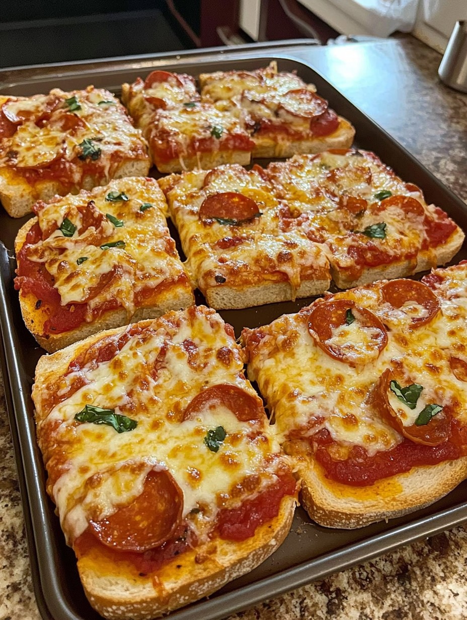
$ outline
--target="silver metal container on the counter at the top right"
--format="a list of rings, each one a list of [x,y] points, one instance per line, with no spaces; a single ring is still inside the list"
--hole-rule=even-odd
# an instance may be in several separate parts
[[[467,92],[467,21],[456,22],[438,76],[456,91]]]

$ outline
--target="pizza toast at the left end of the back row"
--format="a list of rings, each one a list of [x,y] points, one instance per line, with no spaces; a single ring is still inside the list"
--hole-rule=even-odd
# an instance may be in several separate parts
[[[0,95],[0,201],[15,218],[55,194],[145,176],[147,151],[123,105],[104,89]]]

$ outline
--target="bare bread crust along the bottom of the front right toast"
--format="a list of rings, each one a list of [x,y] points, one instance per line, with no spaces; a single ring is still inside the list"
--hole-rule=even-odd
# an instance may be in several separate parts
[[[384,478],[369,487],[329,480],[318,463],[303,456],[297,462],[301,503],[316,523],[327,528],[363,528],[375,521],[407,515],[437,502],[467,477],[466,456],[413,467],[406,474]]]

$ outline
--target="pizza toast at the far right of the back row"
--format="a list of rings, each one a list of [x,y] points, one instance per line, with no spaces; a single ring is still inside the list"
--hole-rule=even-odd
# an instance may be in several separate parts
[[[252,157],[291,157],[349,148],[354,127],[332,110],[295,73],[277,71],[277,62],[254,71],[200,75],[201,100],[244,118],[254,141]]]

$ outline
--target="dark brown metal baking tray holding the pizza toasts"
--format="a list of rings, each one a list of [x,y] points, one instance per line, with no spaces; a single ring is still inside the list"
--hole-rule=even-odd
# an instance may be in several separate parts
[[[427,200],[442,206],[461,228],[467,230],[467,206],[430,174],[391,136],[360,112],[316,73],[307,62],[305,42],[241,46],[171,54],[138,56],[34,68],[9,69],[0,73],[2,94],[30,95],[52,87],[64,90],[95,86],[118,94],[120,84],[145,76],[154,68],[183,71],[195,76],[218,69],[252,69],[277,60],[279,68],[296,70],[307,82],[314,82],[319,94],[357,130],[356,144],[375,151],[403,179],[422,187]],[[66,547],[58,518],[45,492],[45,471],[35,441],[30,389],[38,358],[43,351],[29,334],[21,318],[18,295],[14,291],[12,247],[19,227],[27,218],[11,219],[0,213],[0,361],[5,378],[7,409],[14,440],[20,489],[24,505],[33,583],[40,613],[53,620],[97,620],[84,596],[71,549]],[[176,236],[172,229],[172,234]],[[453,262],[467,258],[464,246]],[[198,298],[198,301],[202,299]],[[242,327],[256,327],[284,312],[296,311],[311,299],[270,304],[235,311],[221,311],[239,334]],[[209,600],[201,600],[171,614],[174,620],[214,620],[244,609],[311,580],[322,578],[401,544],[435,534],[467,520],[467,482],[429,508],[389,523],[384,521],[362,529],[321,528],[305,511],[296,510],[291,532],[273,556],[256,570],[229,583]]]

